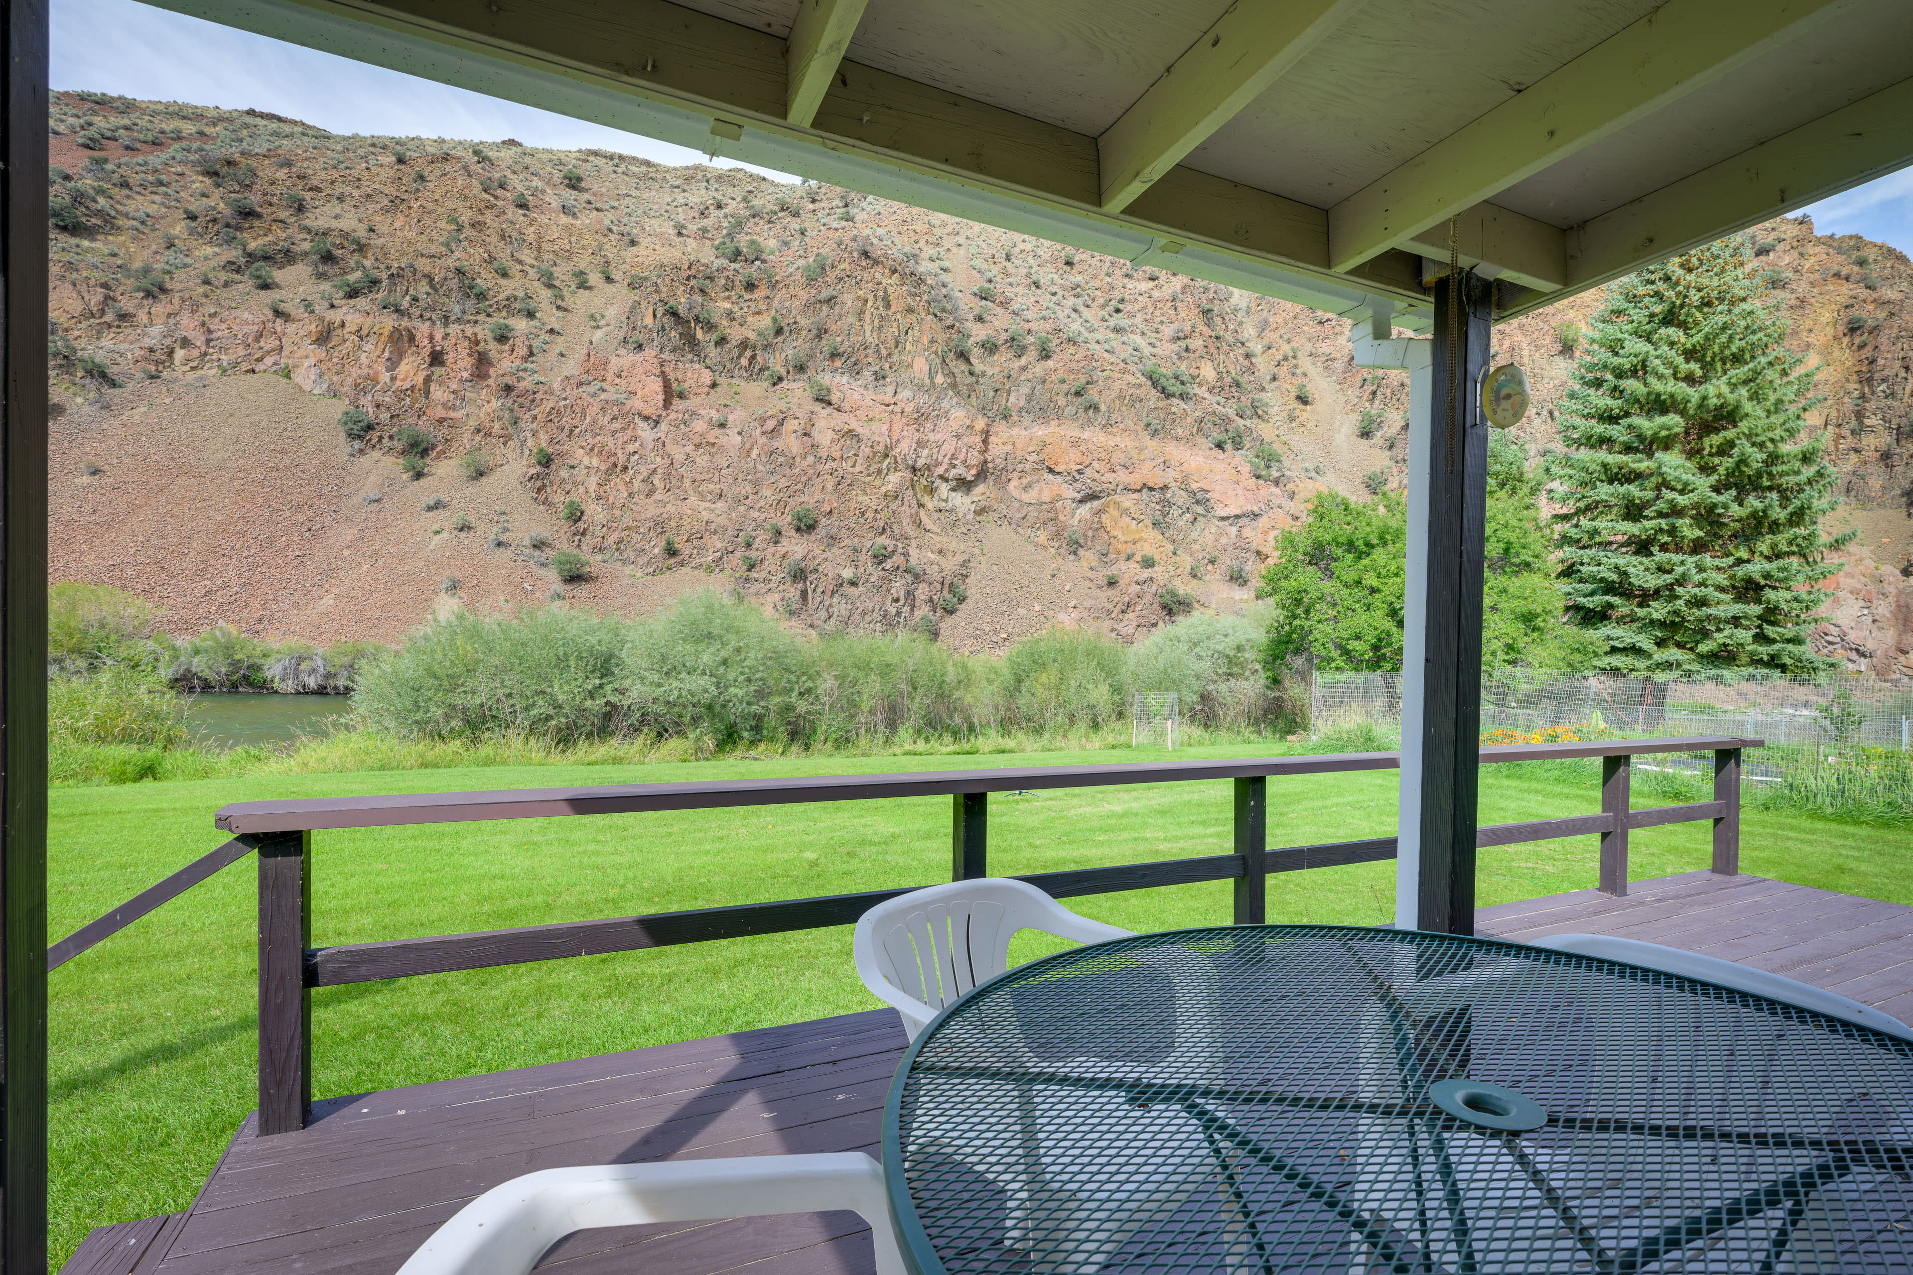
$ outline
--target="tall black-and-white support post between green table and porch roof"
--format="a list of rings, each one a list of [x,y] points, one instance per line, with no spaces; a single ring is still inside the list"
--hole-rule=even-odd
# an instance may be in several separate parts
[[[1408,596],[1395,923],[1475,933],[1481,587],[1488,426],[1475,386],[1494,321],[1486,279],[1435,285],[1429,392],[1408,428]]]

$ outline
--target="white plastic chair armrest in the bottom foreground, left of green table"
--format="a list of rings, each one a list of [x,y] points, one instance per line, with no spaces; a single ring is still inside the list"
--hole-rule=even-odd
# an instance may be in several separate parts
[[[861,1151],[547,1168],[461,1208],[398,1275],[530,1275],[572,1231],[832,1210],[870,1223],[876,1275],[903,1275],[884,1168]]]

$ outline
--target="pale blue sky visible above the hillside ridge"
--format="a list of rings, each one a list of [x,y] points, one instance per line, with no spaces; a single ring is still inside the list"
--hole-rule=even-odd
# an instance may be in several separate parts
[[[469,141],[517,138],[545,147],[595,145],[664,164],[704,162],[702,155],[679,145],[281,44],[136,0],[54,0],[54,88],[258,107],[341,134]],[[1804,212],[1823,235],[1865,235],[1913,254],[1913,168]]]

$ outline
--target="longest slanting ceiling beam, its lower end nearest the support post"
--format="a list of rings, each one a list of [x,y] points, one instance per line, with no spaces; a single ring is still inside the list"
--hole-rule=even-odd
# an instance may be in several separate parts
[[[1330,268],[1416,239],[1858,2],[1668,0],[1330,208]]]

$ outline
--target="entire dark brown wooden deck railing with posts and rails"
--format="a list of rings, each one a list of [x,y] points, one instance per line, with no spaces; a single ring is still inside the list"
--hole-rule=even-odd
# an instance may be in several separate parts
[[[1523,841],[1550,841],[1553,837],[1594,833],[1601,837],[1599,889],[1609,895],[1626,895],[1630,830],[1710,820],[1712,870],[1733,875],[1739,872],[1741,849],[1741,749],[1758,747],[1760,744],[1760,740],[1737,736],[1695,736],[1680,740],[1484,747],[1481,749],[1483,763],[1599,757],[1601,810],[1599,814],[1481,828],[1477,845],[1517,845]],[[1630,757],[1695,751],[1714,753],[1712,801],[1647,810],[1630,809]],[[1234,845],[1226,854],[1071,872],[1039,872],[1020,879],[1037,885],[1056,898],[1108,895],[1157,885],[1186,885],[1192,881],[1234,881],[1232,919],[1238,925],[1253,925],[1261,923],[1266,916],[1268,874],[1395,858],[1396,845],[1395,837],[1366,837],[1358,841],[1268,849],[1268,778],[1341,770],[1393,770],[1398,765],[1400,757],[1396,753],[1341,753],[1104,767],[945,770],[930,774],[241,801],[222,809],[214,820],[218,828],[235,833],[231,841],[142,893],[126,906],[55,944],[54,963],[71,960],[166,898],[235,862],[249,849],[258,851],[258,1132],[262,1135],[285,1134],[304,1128],[312,1105],[312,988],[316,986],[851,925],[867,908],[924,885],[913,883],[855,895],[825,895],[821,898],[786,898],[725,908],[624,916],[601,921],[522,925],[467,935],[314,948],[314,832],[566,814],[620,814],[635,810],[708,810],[811,801],[949,797],[951,879],[962,881],[989,875],[989,793],[1232,780]]]

